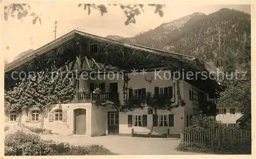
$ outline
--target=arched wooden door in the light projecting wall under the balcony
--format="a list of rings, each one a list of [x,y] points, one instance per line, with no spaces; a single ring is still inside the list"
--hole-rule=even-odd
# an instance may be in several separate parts
[[[86,134],[86,109],[74,110],[74,134]]]

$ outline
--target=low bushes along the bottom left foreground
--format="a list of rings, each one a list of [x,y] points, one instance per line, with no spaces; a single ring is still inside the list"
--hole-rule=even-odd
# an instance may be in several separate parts
[[[75,146],[16,131],[5,137],[5,155],[113,155],[102,145]]]

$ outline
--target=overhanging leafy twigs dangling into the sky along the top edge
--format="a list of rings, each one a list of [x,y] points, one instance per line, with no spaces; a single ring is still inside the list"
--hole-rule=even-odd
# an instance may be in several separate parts
[[[109,4],[112,5],[112,4]],[[108,10],[105,5],[96,5],[96,4],[78,4],[78,7],[82,7],[84,10],[88,10],[88,15],[91,14],[91,9],[95,9],[100,11],[101,16],[103,14],[108,13]],[[119,6],[123,13],[126,15],[127,19],[124,22],[125,25],[129,25],[130,23],[136,23],[135,17],[140,15],[141,12],[144,12],[142,4],[138,5],[117,5],[113,4],[113,6]],[[156,4],[149,4],[148,6],[155,7],[155,13],[158,13],[160,17],[163,16],[162,8],[165,5],[156,5]],[[28,9],[27,9],[28,8]],[[5,6],[5,20],[8,20],[8,16],[15,17],[15,13],[17,13],[17,18],[22,19],[28,16],[28,11],[30,10],[30,5],[28,4],[10,4],[9,6]],[[34,12],[30,14],[30,16],[34,17],[32,23],[35,24],[37,20],[41,24],[40,15],[36,15]]]

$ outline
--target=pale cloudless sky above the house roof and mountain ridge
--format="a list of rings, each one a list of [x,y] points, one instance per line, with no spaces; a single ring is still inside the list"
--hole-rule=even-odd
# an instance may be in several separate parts
[[[5,4],[7,5],[7,4]],[[163,8],[164,16],[155,14],[155,8],[144,5],[144,13],[136,17],[136,23],[124,25],[125,14],[120,7],[108,6],[108,13],[101,16],[97,10],[84,11],[78,3],[71,2],[33,2],[29,3],[31,10],[40,14],[41,24],[32,24],[32,16],[23,21],[11,18],[6,21],[1,16],[2,45],[4,59],[11,62],[20,52],[37,49],[54,40],[54,21],[57,23],[56,38],[79,30],[102,37],[119,35],[132,37],[136,34],[154,29],[164,22],[170,22],[188,14],[201,12],[210,14],[222,8],[236,9],[250,14],[249,5],[199,5],[199,4],[167,4]]]

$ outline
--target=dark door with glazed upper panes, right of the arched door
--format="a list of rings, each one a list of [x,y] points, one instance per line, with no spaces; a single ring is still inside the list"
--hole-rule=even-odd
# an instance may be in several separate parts
[[[119,134],[119,112],[108,112],[109,135]]]

